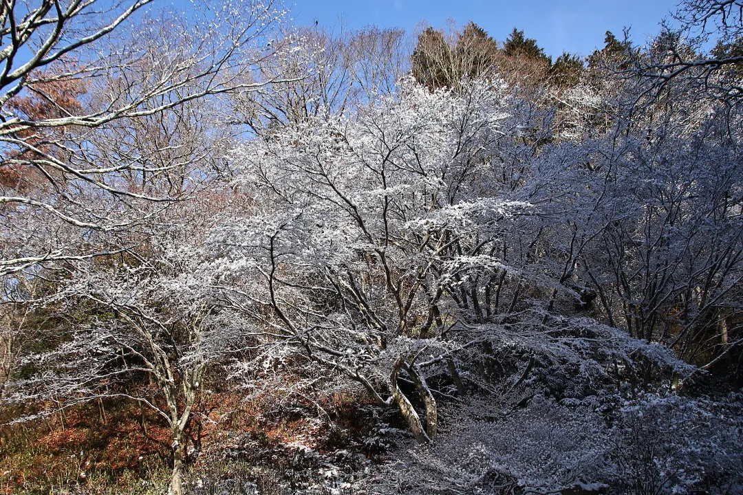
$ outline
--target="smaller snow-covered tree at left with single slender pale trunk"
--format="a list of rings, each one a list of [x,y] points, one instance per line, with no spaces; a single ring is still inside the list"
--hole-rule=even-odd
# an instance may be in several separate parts
[[[30,371],[8,385],[5,398],[43,404],[53,397],[41,414],[98,399],[149,407],[171,430],[170,487],[177,495],[185,432],[205,373],[256,343],[250,323],[225,307],[205,258],[208,217],[224,207],[214,199],[189,205],[199,206],[199,216],[175,207],[160,215],[155,232],[120,256],[65,270],[46,302],[59,315],[57,331],[23,355]],[[27,419],[33,416],[19,420]]]

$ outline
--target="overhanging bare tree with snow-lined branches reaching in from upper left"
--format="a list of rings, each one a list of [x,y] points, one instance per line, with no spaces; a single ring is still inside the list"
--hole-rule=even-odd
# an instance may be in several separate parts
[[[126,147],[106,156],[94,148],[95,134],[263,84],[251,71],[271,51],[266,45],[284,15],[279,5],[202,4],[186,15],[143,12],[146,4],[3,4],[0,274],[111,252],[91,242],[97,232],[129,225],[140,217],[138,205],[181,194],[123,180],[183,168],[178,157],[146,163]],[[155,148],[178,154],[172,142]]]

